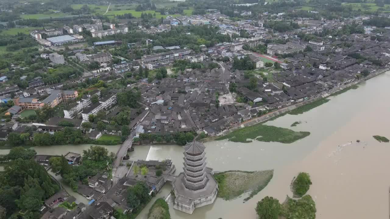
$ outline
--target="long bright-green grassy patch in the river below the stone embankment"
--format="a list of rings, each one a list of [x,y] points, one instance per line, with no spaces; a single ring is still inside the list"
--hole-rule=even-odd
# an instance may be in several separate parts
[[[281,127],[256,124],[242,129],[238,129],[216,140],[229,139],[229,141],[249,143],[256,139],[257,141],[276,141],[280,143],[293,143],[294,141],[305,138],[310,132],[296,132],[291,129]]]

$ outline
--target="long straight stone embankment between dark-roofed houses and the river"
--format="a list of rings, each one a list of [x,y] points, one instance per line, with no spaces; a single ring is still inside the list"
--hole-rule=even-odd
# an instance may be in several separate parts
[[[379,74],[382,74],[383,72],[386,72],[386,71],[389,71],[390,69],[388,68],[385,68],[385,69],[380,69],[372,74],[370,74],[369,76],[365,77],[365,78],[361,78],[359,80],[356,80],[356,81],[353,81],[352,83],[349,83],[347,85],[343,85],[343,86],[340,86],[340,87],[337,87],[337,88],[333,88],[331,90],[328,90],[326,92],[322,92],[321,94],[319,94],[317,97],[315,98],[312,98],[312,99],[309,99],[309,100],[306,100],[306,101],[301,101],[299,103],[296,103],[294,105],[291,105],[291,106],[287,106],[285,108],[280,108],[280,109],[277,109],[276,111],[273,111],[271,113],[267,113],[265,115],[262,115],[261,117],[256,117],[256,118],[253,118],[251,120],[247,120],[245,122],[242,122],[241,125],[238,125],[236,127],[232,127],[230,129],[226,129],[225,131],[222,131],[220,133],[218,133],[217,135],[215,136],[211,136],[209,138],[205,138],[203,140],[203,142],[207,142],[207,141],[212,141],[212,140],[216,140],[217,138],[221,137],[221,136],[225,136],[227,134],[229,134],[230,132],[233,132],[233,131],[236,131],[237,129],[240,129],[240,128],[243,128],[243,127],[248,127],[248,126],[251,126],[251,125],[255,125],[255,124],[258,124],[258,123],[261,123],[261,122],[265,122],[271,118],[274,118],[274,117],[277,117],[283,113],[287,113],[293,109],[296,109],[298,107],[301,107],[303,105],[306,105],[306,104],[310,104],[314,101],[317,101],[321,98],[324,98],[324,97],[328,97],[329,95],[335,93],[335,92],[338,92],[340,90],[344,90],[345,88],[349,88],[353,85],[356,85],[358,83],[362,83],[363,81],[366,81],[370,78],[373,78],[375,76],[378,76]]]

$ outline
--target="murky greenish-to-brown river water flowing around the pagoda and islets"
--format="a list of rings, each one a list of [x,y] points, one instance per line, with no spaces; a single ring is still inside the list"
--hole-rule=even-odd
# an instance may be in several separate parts
[[[379,143],[373,135],[390,137],[390,72],[359,85],[356,90],[329,97],[331,101],[301,115],[285,115],[269,121],[294,131],[310,131],[310,136],[291,144],[254,141],[205,143],[207,166],[215,171],[269,170],[274,177],[268,186],[249,201],[243,198],[196,209],[192,215],[174,210],[172,219],[256,219],[255,205],[264,196],[283,202],[292,196],[290,183],[300,171],[308,172],[313,185],[308,194],[316,201],[317,219],[367,219],[389,217],[390,143]],[[294,122],[302,122],[290,127]],[[356,140],[360,140],[357,143]],[[82,153],[90,145],[34,147],[38,154]],[[176,174],[183,168],[183,148],[177,145],[135,145],[131,159],[172,159]],[[106,146],[116,152],[118,146]],[[7,154],[8,150],[0,150]],[[167,197],[167,183],[157,197]],[[75,196],[76,197],[76,196]],[[153,198],[154,201],[156,198]],[[83,201],[84,202],[84,201]],[[146,219],[152,202],[140,213]]]

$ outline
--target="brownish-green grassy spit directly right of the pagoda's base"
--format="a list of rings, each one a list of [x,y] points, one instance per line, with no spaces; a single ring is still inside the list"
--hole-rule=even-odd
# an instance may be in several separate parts
[[[235,199],[251,191],[244,199],[248,201],[264,189],[273,177],[273,170],[265,171],[225,171],[214,174],[218,182],[218,197],[224,200]]]

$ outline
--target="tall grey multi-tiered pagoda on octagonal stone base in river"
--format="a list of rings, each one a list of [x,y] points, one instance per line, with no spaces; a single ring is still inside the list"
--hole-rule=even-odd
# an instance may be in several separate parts
[[[173,183],[176,210],[192,214],[195,208],[212,204],[217,196],[218,184],[213,169],[206,167],[204,148],[195,140],[184,146],[184,172]]]

